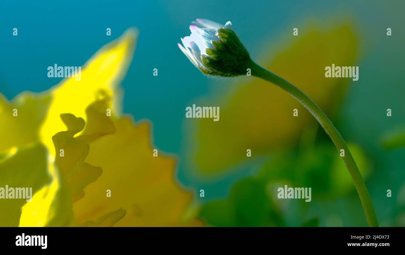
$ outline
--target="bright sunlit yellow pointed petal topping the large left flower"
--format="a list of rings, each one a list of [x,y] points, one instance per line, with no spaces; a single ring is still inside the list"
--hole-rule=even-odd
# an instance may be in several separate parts
[[[81,80],[76,81],[75,77],[64,79],[51,88],[51,104],[40,129],[40,141],[50,152],[53,152],[51,136],[65,129],[60,114],[71,113],[86,121],[86,107],[106,96],[111,97],[111,111],[116,115],[120,113],[122,98],[119,84],[132,61],[136,36],[134,29],[128,29],[124,35],[102,47],[85,63]]]

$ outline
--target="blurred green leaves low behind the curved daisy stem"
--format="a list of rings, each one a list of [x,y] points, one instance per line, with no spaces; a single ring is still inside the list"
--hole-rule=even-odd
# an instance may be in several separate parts
[[[316,127],[305,130],[298,148],[275,155],[257,176],[236,182],[227,199],[203,205],[200,217],[211,226],[293,226],[287,215],[295,210],[302,221],[297,226],[318,226],[319,217],[305,219],[309,206],[305,199],[278,199],[277,188],[311,187],[312,201],[356,192],[339,152],[323,132]],[[348,146],[362,176],[367,178],[367,156],[356,144]]]

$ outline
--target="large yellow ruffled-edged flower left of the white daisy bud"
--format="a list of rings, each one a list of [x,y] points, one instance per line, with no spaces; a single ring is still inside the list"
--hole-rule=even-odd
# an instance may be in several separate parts
[[[40,173],[32,178],[35,185],[26,184],[34,186],[32,201],[13,205],[13,211],[0,201],[4,215],[14,213],[10,226],[200,225],[183,217],[192,196],[175,181],[175,160],[162,152],[153,157],[149,124],[121,117],[119,84],[136,37],[128,29],[102,47],[83,66],[81,80],[63,79],[46,92],[22,93],[11,102],[0,95],[0,112],[10,113],[0,125],[0,132],[9,134],[0,141],[0,177],[7,177],[0,184],[21,178],[32,164]],[[18,117],[12,115],[15,108]],[[38,153],[40,162],[26,157],[23,167],[14,167],[26,154],[22,147]]]

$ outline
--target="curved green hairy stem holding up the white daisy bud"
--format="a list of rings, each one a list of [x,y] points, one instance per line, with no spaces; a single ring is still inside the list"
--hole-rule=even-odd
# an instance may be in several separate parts
[[[326,133],[329,135],[330,139],[332,139],[339,153],[341,149],[345,151],[344,154],[345,156],[342,157],[342,159],[345,162],[347,170],[349,170],[349,173],[352,176],[354,185],[356,186],[358,195],[360,196],[364,213],[366,214],[367,222],[370,227],[378,227],[377,216],[375,215],[373,203],[371,202],[366,184],[364,183],[364,180],[360,174],[360,171],[358,170],[358,167],[353,159],[352,154],[350,153],[349,148],[345,143],[345,140],[343,140],[341,134],[339,133],[339,131],[337,131],[332,121],[328,119],[325,113],[318,107],[318,105],[316,105],[311,100],[311,98],[305,95],[301,90],[296,88],[290,82],[286,81],[285,79],[279,77],[278,75],[270,71],[267,71],[266,69],[260,67],[253,61],[252,63],[250,63],[249,66],[252,69],[252,75],[277,85],[278,87],[288,92],[288,94],[293,96],[296,100],[298,100],[305,108],[308,109],[308,111],[313,115],[313,117],[315,117],[315,119],[321,124]]]

